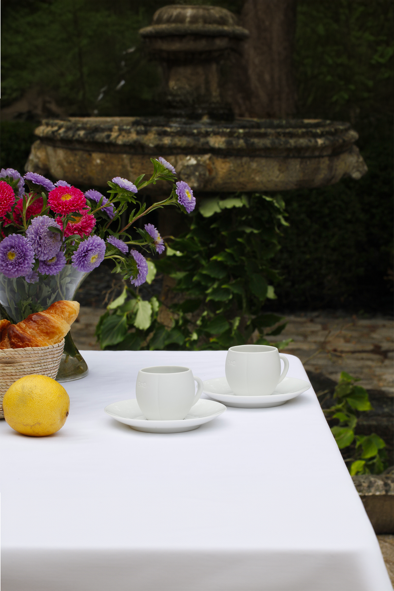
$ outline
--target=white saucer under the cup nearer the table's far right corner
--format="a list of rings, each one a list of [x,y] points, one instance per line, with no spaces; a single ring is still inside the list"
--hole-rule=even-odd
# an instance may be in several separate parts
[[[204,390],[214,400],[237,408],[269,408],[285,404],[311,387],[309,382],[298,378],[284,378],[270,396],[237,396],[232,392],[226,378],[211,378],[203,382]]]

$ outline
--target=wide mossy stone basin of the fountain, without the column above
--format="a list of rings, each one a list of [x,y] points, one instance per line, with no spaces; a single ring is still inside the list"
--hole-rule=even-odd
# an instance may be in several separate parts
[[[350,124],[322,119],[76,117],[46,119],[35,135],[26,170],[72,184],[133,180],[151,173],[150,158],[158,156],[203,192],[321,187],[367,171]],[[159,194],[164,186],[152,189]]]

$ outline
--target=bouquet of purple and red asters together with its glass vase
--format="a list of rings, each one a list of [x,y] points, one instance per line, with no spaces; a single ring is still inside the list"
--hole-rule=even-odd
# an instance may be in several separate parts
[[[170,163],[164,158],[151,161],[154,171],[149,180],[144,181],[144,174],[133,183],[114,177],[108,181],[108,197],[93,189],[82,193],[62,180],[53,184],[37,173],[21,177],[13,168],[2,168],[2,315],[19,322],[54,301],[73,299],[86,275],[104,259],[112,259],[113,272],[121,273],[135,287],[146,281],[148,262],[141,251],[161,254],[164,241],[152,224],[141,229],[135,223],[160,207],[175,205],[190,213],[196,205],[193,191],[184,181],[177,181]],[[171,194],[146,208],[136,194],[158,180],[170,184]],[[122,227],[123,214],[131,204],[135,207]],[[86,362],[67,335],[57,379],[76,379],[87,371]]]

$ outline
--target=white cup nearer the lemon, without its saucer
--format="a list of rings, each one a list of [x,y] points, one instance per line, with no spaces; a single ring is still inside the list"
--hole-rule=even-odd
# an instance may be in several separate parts
[[[195,378],[191,369],[176,365],[140,369],[135,385],[138,406],[149,421],[182,420],[202,392],[201,378]]]

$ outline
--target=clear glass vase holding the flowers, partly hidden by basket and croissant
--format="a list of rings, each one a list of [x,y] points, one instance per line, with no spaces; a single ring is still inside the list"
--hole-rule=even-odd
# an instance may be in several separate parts
[[[73,300],[82,281],[89,275],[66,265],[58,275],[39,275],[37,283],[28,283],[24,277],[9,278],[0,273],[0,303],[11,322],[24,320],[33,312],[46,310],[58,300]],[[86,361],[74,345],[70,332],[64,337],[64,351],[56,379],[69,382],[89,372]]]

